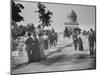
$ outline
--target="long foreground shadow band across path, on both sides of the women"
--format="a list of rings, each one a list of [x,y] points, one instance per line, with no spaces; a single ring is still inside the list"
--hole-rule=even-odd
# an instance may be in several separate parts
[[[89,61],[92,59],[92,62],[90,63],[92,67],[88,68],[88,69],[94,69],[96,68],[96,58],[95,56],[90,57],[88,54],[73,54],[73,55],[57,55],[51,58],[48,58],[46,60],[43,60],[41,62],[37,62],[37,65],[45,65],[45,66],[52,66],[54,64],[56,65],[75,65],[75,64],[79,64],[79,63],[85,63],[86,61]],[[33,62],[34,63],[34,62]],[[24,63],[24,64],[20,64],[17,65],[16,67],[12,68],[13,71],[20,69],[20,68],[24,68],[26,66],[28,66],[30,64]]]

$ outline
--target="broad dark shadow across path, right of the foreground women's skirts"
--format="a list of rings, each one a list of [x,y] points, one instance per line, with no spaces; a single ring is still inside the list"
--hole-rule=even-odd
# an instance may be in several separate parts
[[[84,62],[89,61],[91,59],[93,59],[93,63],[91,63],[91,65],[93,65],[93,67],[96,67],[95,56],[90,57],[88,54],[57,55],[57,56],[54,56],[52,58],[48,58],[45,61],[41,61],[40,64],[50,66],[50,65],[53,65],[55,63],[59,64],[59,63],[65,62],[63,65],[65,65],[65,64],[71,65],[71,64],[84,63]]]

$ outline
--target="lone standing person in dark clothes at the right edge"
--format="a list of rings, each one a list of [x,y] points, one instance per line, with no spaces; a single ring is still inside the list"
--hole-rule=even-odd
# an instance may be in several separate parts
[[[94,43],[95,43],[95,34],[93,29],[90,29],[89,32],[89,37],[88,37],[88,42],[89,42],[89,50],[90,50],[90,55],[94,55]]]

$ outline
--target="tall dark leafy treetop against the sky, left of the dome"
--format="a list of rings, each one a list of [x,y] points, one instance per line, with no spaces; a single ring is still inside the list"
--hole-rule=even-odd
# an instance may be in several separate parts
[[[41,4],[40,2],[38,3],[38,12],[39,13],[39,19],[40,21],[39,22],[42,22],[41,24],[44,26],[50,26],[50,22],[52,22],[51,20],[51,15],[52,15],[52,12],[50,12],[49,10],[46,12],[45,10],[45,5]]]

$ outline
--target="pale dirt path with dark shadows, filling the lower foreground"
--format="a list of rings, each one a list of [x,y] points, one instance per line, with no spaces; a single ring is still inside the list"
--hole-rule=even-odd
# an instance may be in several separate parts
[[[69,71],[95,68],[95,56],[89,56],[86,40],[84,41],[84,51],[74,51],[73,44],[66,42],[68,41],[60,41],[55,48],[48,50],[47,60],[21,65],[19,68],[13,69],[12,73]]]

